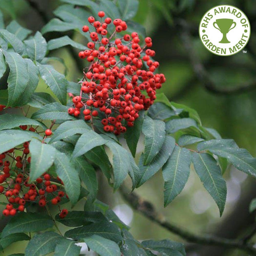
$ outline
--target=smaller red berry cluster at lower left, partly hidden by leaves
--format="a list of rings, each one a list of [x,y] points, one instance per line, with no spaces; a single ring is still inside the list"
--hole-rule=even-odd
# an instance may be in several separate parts
[[[28,126],[20,128],[26,130]],[[28,130],[35,132],[33,127]],[[51,134],[50,129],[45,131],[45,137]],[[21,156],[16,155],[17,152],[21,152]],[[4,195],[8,201],[3,210],[4,216],[13,216],[17,211],[24,211],[31,202],[37,202],[39,206],[44,207],[47,203],[56,205],[63,197],[67,197],[62,190],[64,186],[61,179],[48,173],[28,183],[31,162],[29,153],[29,141],[26,141],[22,146],[0,154],[0,195]],[[63,209],[59,216],[64,218],[67,213],[67,210]]]

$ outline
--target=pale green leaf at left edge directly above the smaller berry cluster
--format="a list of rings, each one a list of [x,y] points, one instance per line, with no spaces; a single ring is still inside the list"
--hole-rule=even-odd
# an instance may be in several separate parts
[[[33,137],[43,139],[35,132],[16,129],[0,131],[0,154],[24,143],[25,141],[30,141]]]

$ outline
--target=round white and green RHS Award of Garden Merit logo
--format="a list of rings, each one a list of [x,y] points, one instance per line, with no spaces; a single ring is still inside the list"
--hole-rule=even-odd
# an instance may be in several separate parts
[[[240,52],[248,43],[251,27],[246,15],[232,5],[218,5],[208,10],[199,24],[204,47],[220,56]]]

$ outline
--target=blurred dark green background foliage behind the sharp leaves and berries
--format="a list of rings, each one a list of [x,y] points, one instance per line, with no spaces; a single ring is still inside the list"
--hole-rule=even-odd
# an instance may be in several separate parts
[[[38,4],[45,17],[31,8],[34,3]],[[63,3],[59,0],[0,0],[6,24],[15,19],[33,31],[41,30],[45,19],[54,17],[52,11],[60,4]],[[217,56],[202,45],[198,36],[199,22],[208,9],[219,4],[234,5],[249,18],[251,38],[243,49],[247,53],[241,51],[233,56]],[[152,37],[155,59],[160,63],[159,72],[167,78],[160,92],[164,92],[170,100],[194,108],[204,126],[215,128],[223,138],[234,139],[239,147],[256,156],[256,1],[139,0],[134,21],[145,26],[147,36]],[[46,34],[46,39],[48,36]],[[53,38],[58,36],[56,33]],[[75,41],[86,43],[78,33],[72,34],[72,37]],[[77,50],[75,52],[78,53]],[[51,55],[64,59],[68,80],[77,81],[81,77],[80,60],[66,48]],[[65,72],[60,63],[53,61],[51,64],[58,71]],[[87,65],[86,61],[82,64]],[[206,76],[202,76],[201,68],[206,71]],[[50,90],[41,81],[37,91]],[[163,181],[159,172],[136,191],[155,204],[169,221],[183,228],[197,234],[240,237],[255,227],[255,213],[249,214],[248,208],[249,202],[256,197],[256,182],[234,167],[229,168],[224,177],[228,196],[221,218],[213,199],[193,171],[184,191],[166,208],[163,208]],[[118,192],[113,194],[103,177],[100,176],[99,180],[98,198],[110,204],[129,223],[136,239],[170,238],[182,241],[180,237],[149,223],[141,215],[132,213],[121,195]],[[187,244],[186,250],[191,256],[247,255],[239,250],[194,244]]]

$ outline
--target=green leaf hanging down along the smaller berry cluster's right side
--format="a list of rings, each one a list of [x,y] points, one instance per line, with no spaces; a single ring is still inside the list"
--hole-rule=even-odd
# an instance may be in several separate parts
[[[64,183],[69,200],[72,204],[75,204],[80,194],[80,180],[78,172],[70,162],[71,159],[66,154],[59,151],[56,152],[54,159],[56,173]]]

